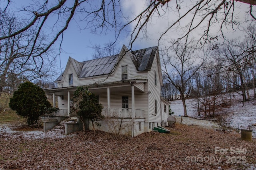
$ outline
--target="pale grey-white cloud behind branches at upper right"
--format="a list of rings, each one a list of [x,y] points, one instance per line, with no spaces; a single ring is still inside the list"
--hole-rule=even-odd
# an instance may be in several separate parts
[[[162,8],[158,8],[158,12],[154,13],[154,15],[150,18],[148,21],[147,27],[143,29],[142,32],[140,32],[138,39],[135,41],[134,46],[141,46],[141,47],[150,47],[154,45],[158,45],[158,39],[164,33],[170,25],[172,25],[179,16],[182,16],[185,14],[194,4],[198,1],[182,1],[178,6],[180,8],[178,13],[176,1],[170,1],[167,5],[162,6]],[[214,1],[216,4],[219,4],[221,1],[216,0]],[[124,14],[126,14],[127,17],[130,19],[135,18],[138,16],[150,3],[150,1],[147,0],[130,0],[125,1],[122,4],[122,10]],[[202,12],[198,13],[198,15],[194,18],[194,24],[192,26],[195,26],[197,23],[199,23],[202,20],[202,16],[205,16],[206,11],[210,10],[210,8],[216,8],[216,4],[210,4],[209,9],[205,9]],[[229,6],[228,6],[229,7]],[[242,2],[235,2],[235,9],[234,9],[234,15],[229,15],[227,21],[224,21],[222,25],[222,31],[224,33],[225,38],[234,38],[237,36],[241,36],[243,34],[242,30],[243,27],[246,27],[248,25],[246,21],[246,12],[248,12],[248,4],[244,4]],[[199,39],[204,33],[204,31],[207,29],[208,20],[210,19],[211,15],[209,15],[205,20],[203,21],[199,27],[197,27],[194,31],[191,32],[190,37],[195,37],[196,39]],[[231,20],[231,17],[233,17],[233,20],[236,21],[237,25],[229,23],[228,21]],[[212,36],[218,36],[219,41],[222,41],[222,35],[220,31],[220,26],[224,18],[224,11],[220,10],[217,13],[217,16],[214,16],[211,23],[210,31],[209,33]],[[189,29],[189,23],[193,19],[193,13],[190,12],[186,17],[182,18],[182,20],[176,25],[170,29],[160,40],[160,44],[166,44],[167,40],[170,39],[177,39],[179,37],[184,36],[184,34]],[[136,26],[136,22],[133,22],[130,25],[130,31]],[[235,33],[235,34],[234,34]],[[126,39],[124,39],[125,44],[128,44],[131,37],[128,36]]]

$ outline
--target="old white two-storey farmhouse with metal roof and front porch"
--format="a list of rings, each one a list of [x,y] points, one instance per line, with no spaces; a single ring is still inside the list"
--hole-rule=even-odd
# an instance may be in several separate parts
[[[58,115],[70,116],[73,92],[87,86],[104,107],[99,130],[134,137],[167,124],[170,103],[161,97],[158,47],[128,51],[123,45],[119,55],[83,62],[70,57],[56,82],[57,88],[45,92],[53,96],[53,106],[58,96]]]

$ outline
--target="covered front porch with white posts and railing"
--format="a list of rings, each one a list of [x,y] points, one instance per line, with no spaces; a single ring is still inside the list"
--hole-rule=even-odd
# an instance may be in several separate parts
[[[106,84],[88,85],[88,89],[99,98],[99,103],[104,107],[102,115],[108,118],[144,118],[144,107],[140,107],[139,101],[148,95],[145,93],[144,82],[147,80],[126,80]],[[70,116],[73,107],[71,98],[77,86],[54,88],[44,90],[46,94],[52,95],[53,107],[59,111],[55,116]],[[127,96],[129,102],[122,106],[122,96]],[[139,96],[139,97],[138,97]],[[57,100],[56,100],[57,98]],[[58,103],[58,106],[56,106]],[[124,108],[125,107],[125,108]]]

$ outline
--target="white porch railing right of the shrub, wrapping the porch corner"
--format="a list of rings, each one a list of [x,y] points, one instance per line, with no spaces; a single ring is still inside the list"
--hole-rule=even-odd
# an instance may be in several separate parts
[[[120,108],[120,109],[102,109],[102,115],[104,117],[127,117],[132,118],[131,108]],[[144,110],[135,109],[135,118],[143,118]]]

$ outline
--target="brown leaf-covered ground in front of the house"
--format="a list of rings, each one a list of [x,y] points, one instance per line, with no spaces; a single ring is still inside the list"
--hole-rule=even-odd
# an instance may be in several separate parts
[[[85,135],[76,132],[38,139],[22,135],[22,128],[15,133],[2,129],[0,169],[256,168],[255,139],[244,141],[238,133],[178,123],[168,129],[170,133],[151,132],[134,138],[101,131],[94,137],[92,131],[86,131]]]

